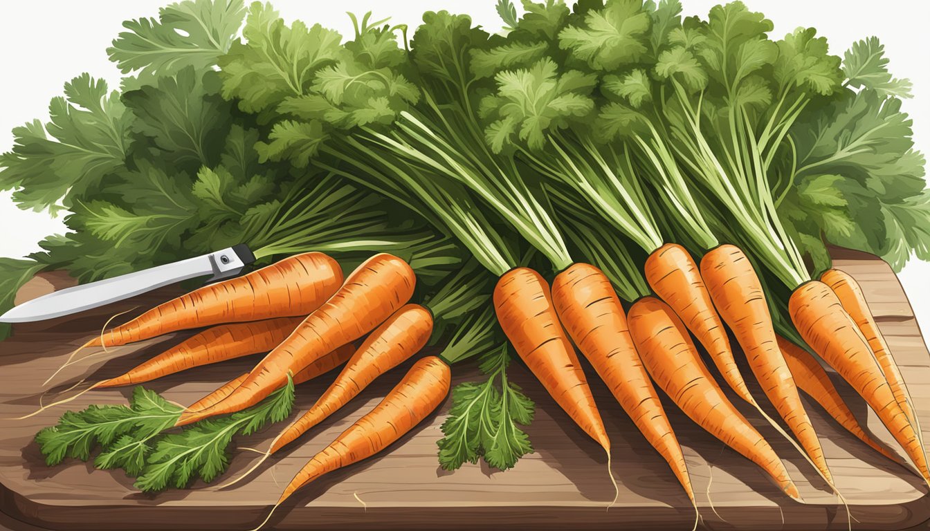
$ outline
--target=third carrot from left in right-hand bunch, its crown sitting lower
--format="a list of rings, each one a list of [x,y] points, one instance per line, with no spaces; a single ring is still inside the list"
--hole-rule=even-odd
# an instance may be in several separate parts
[[[800,498],[781,459],[727,400],[671,308],[652,297],[640,299],[630,309],[629,323],[646,370],[671,400],[701,428],[762,467],[785,494]]]

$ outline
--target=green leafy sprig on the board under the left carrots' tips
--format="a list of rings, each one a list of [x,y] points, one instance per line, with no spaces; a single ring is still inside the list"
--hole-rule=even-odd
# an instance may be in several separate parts
[[[35,440],[48,466],[65,458],[94,458],[98,469],[122,469],[136,477],[142,491],[181,488],[193,479],[210,482],[229,467],[228,447],[235,435],[249,435],[290,415],[294,381],[253,407],[232,415],[197,422],[183,431],[163,433],[177,422],[183,408],[157,392],[137,387],[129,405],[90,405],[61,416],[56,426],[39,431]]]

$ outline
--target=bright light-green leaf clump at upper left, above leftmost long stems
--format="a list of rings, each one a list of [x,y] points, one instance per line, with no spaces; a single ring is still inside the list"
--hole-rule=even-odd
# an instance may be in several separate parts
[[[419,89],[398,70],[405,52],[388,26],[357,20],[355,38],[315,24],[287,26],[267,5],[254,4],[245,43],[220,60],[223,96],[275,121],[256,148],[262,161],[310,163],[334,131],[391,124],[419,100]],[[343,133],[339,133],[343,134]]]

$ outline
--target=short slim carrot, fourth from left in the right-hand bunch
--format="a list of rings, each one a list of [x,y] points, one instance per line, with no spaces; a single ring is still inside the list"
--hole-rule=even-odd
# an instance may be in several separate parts
[[[730,339],[720,315],[713,307],[711,294],[687,250],[676,244],[659,247],[645,260],[644,273],[659,299],[671,306],[711,355],[711,360],[717,365],[727,385],[737,392],[739,398],[757,405],[739,373]]]

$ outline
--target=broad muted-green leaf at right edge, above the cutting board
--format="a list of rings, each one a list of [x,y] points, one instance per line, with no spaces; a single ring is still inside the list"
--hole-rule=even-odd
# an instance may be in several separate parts
[[[912,251],[927,258],[924,159],[913,148],[910,118],[901,112],[900,100],[870,88],[846,91],[791,136],[794,190],[779,208],[794,219],[800,239],[813,243],[822,234],[834,245],[877,254],[896,271]],[[805,199],[809,183],[825,175],[829,192],[842,203]]]

